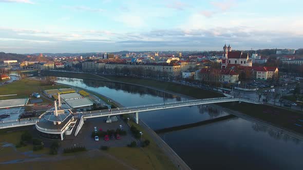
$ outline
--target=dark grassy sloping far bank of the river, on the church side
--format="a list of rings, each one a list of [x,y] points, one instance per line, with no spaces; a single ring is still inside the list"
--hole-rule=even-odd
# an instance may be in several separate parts
[[[180,84],[156,81],[150,79],[140,79],[140,78],[131,78],[131,77],[119,77],[119,76],[107,76],[103,77],[110,79],[113,82],[126,83],[134,86],[141,86],[145,88],[150,88],[178,96],[183,96],[186,98],[197,99],[197,98],[210,98],[213,97],[215,92],[205,93],[206,90],[181,86]],[[96,77],[95,77],[96,78]],[[109,81],[104,79],[99,79],[103,81]],[[221,95],[216,93],[217,95]],[[204,97],[206,96],[206,97]],[[301,126],[293,123],[294,121],[303,120],[303,115],[295,111],[289,111],[282,108],[272,107],[269,105],[257,105],[251,103],[220,103],[216,104],[220,107],[233,110],[235,112],[240,112],[245,115],[248,115],[252,118],[263,121],[264,124],[272,124],[274,126],[280,127],[283,129],[283,132],[292,132],[293,136],[302,136],[303,129]],[[298,122],[300,124],[300,122]]]

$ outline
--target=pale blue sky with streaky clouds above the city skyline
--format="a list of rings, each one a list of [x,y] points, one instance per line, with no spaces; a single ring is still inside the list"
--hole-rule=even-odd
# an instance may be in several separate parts
[[[0,0],[0,51],[303,48],[301,0]]]

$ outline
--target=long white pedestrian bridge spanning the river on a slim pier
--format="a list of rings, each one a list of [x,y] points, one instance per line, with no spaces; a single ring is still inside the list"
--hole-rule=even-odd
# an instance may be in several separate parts
[[[183,100],[176,102],[167,102],[167,103],[158,103],[158,104],[148,104],[148,105],[139,105],[134,107],[124,107],[124,108],[116,108],[109,110],[97,110],[97,111],[89,111],[83,112],[83,118],[97,118],[97,117],[106,117],[106,116],[115,116],[115,115],[123,115],[123,114],[136,114],[136,123],[139,123],[139,113],[141,112],[149,112],[149,111],[157,111],[157,110],[165,110],[165,109],[174,109],[181,107],[188,107],[193,105],[201,105],[201,104],[212,104],[212,103],[222,103],[222,102],[249,102],[254,104],[262,104],[262,102],[243,99],[243,98],[229,98],[229,97],[219,97],[219,98],[207,98],[207,99],[197,99],[197,100]],[[26,125],[34,125],[35,122],[39,121],[39,118],[31,118],[31,121],[28,119],[23,120],[12,120],[8,122],[0,121],[0,129],[13,128],[18,126],[26,126]]]

